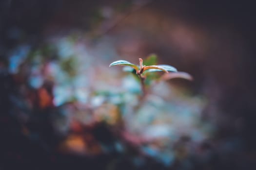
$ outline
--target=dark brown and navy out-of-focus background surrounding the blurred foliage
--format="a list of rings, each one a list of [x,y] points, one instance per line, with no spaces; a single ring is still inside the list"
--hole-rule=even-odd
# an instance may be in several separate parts
[[[102,26],[105,21],[95,12],[104,5],[118,6],[118,14],[121,14],[121,19],[114,15],[107,20],[106,23],[115,23],[110,27]],[[137,56],[155,52],[161,56],[161,61],[172,62],[191,73],[195,78],[190,84],[193,93],[208,97],[209,104],[202,119],[213,121],[218,129],[212,139],[215,146],[207,142],[201,146],[213,147],[210,150],[216,151],[210,161],[195,161],[197,163],[189,168],[179,166],[179,163],[166,168],[148,158],[144,168],[253,170],[256,162],[255,17],[254,3],[249,1],[152,0],[134,9],[133,2],[125,0],[1,0],[0,170],[105,169],[108,162],[119,156],[116,153],[96,157],[59,153],[55,146],[61,138],[53,133],[47,116],[38,114],[27,124],[42,136],[32,140],[20,134],[22,124],[12,115],[14,106],[10,95],[17,95],[19,84],[15,80],[17,77],[6,69],[10,51],[22,43],[37,48],[46,38],[68,34],[71,30],[90,34],[93,42],[105,35],[117,37],[118,42],[129,42],[133,38],[137,41],[139,37],[143,42],[140,50],[127,54],[134,55],[133,61]],[[177,32],[169,34],[169,27],[166,32],[161,30],[163,26],[157,25],[158,20],[170,25],[181,23],[181,27],[172,29],[170,26],[170,32]],[[135,29],[139,31],[133,32]],[[196,50],[193,45],[190,47],[191,39],[186,39],[187,35],[196,39],[192,44],[199,41]],[[119,49],[119,53],[125,52],[125,49]],[[216,106],[221,112],[213,111]],[[47,115],[52,109],[38,112]],[[104,125],[87,131],[99,136],[99,140],[115,140]],[[108,133],[106,139],[100,138]],[[232,151],[227,149],[229,147]],[[116,166],[116,169],[133,168],[126,158]]]

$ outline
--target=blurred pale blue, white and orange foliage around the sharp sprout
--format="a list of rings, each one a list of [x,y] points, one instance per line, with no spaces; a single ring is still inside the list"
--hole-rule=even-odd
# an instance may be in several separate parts
[[[50,112],[47,119],[61,136],[56,146],[60,153],[125,155],[132,147],[137,150],[131,156],[135,166],[146,166],[145,159],[153,158],[170,167],[189,159],[196,152],[194,145],[213,135],[213,126],[200,121],[206,104],[202,96],[191,96],[167,82],[153,84],[159,73],[152,72],[146,82],[150,94],[141,101],[137,78],[118,69],[113,75],[107,64],[95,62],[81,37],[72,37],[46,41],[34,49],[21,46],[9,57],[9,71],[22,77],[20,84],[16,82],[20,97],[13,105],[30,113],[16,113],[26,117],[21,121],[25,136],[33,135],[28,127],[34,121],[31,117]],[[156,63],[155,54],[144,61]]]

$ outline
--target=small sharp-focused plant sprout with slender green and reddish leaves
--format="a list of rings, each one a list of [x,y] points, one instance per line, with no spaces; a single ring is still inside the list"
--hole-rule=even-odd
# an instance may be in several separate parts
[[[129,72],[136,72],[140,79],[141,89],[143,92],[143,95],[146,94],[146,88],[145,88],[145,79],[146,79],[146,73],[148,72],[156,72],[156,71],[163,71],[164,75],[159,80],[169,80],[173,78],[183,78],[187,80],[192,80],[192,76],[186,72],[178,72],[176,68],[170,65],[149,65],[145,66],[143,65],[143,59],[139,58],[139,65],[132,64],[125,60],[118,60],[109,65],[111,66],[126,66],[125,70]],[[156,63],[156,55],[151,55],[147,58],[147,63]],[[128,68],[127,68],[128,67]],[[143,74],[144,73],[144,74]]]

